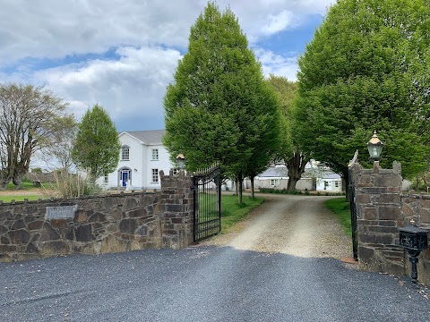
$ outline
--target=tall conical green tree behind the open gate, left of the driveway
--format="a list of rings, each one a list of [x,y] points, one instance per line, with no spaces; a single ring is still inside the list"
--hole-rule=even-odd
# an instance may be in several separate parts
[[[183,153],[190,171],[219,161],[225,176],[241,183],[251,163],[270,162],[278,142],[279,102],[263,80],[261,64],[234,13],[209,3],[191,28],[164,98],[170,155]]]

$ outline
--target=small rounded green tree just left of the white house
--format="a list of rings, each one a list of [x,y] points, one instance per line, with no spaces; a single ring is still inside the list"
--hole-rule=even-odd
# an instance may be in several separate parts
[[[72,149],[73,162],[90,170],[93,179],[115,170],[119,161],[121,143],[115,124],[99,105],[90,108],[78,125]]]

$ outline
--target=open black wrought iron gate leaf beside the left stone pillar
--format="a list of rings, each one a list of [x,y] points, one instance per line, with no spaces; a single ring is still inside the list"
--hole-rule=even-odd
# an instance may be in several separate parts
[[[221,170],[218,165],[193,174],[194,242],[221,231]]]

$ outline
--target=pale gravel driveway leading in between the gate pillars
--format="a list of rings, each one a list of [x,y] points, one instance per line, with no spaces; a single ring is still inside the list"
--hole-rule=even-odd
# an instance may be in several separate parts
[[[262,207],[205,245],[279,252],[304,258],[352,257],[351,238],[323,202],[333,197],[265,195]]]

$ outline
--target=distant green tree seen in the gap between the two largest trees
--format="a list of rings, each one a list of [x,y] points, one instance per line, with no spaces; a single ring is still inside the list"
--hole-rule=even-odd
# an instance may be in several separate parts
[[[297,137],[296,127],[300,126],[294,119],[294,99],[297,96],[297,82],[289,81],[285,77],[271,75],[269,83],[276,89],[282,109],[282,140],[276,153],[275,162],[282,163],[288,168],[288,191],[296,190],[296,183],[305,172],[305,165],[309,162],[308,154],[299,148],[301,138]]]

